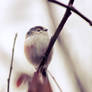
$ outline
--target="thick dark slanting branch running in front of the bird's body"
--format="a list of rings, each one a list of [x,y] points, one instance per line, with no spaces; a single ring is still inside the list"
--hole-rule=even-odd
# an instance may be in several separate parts
[[[73,2],[74,2],[74,0],[70,0],[69,5],[72,5]],[[55,43],[56,39],[58,38],[60,32],[62,31],[62,29],[63,29],[63,27],[64,27],[64,25],[65,25],[65,23],[66,23],[66,21],[67,21],[67,19],[69,18],[70,15],[71,15],[71,10],[67,8],[62,21],[60,22],[58,28],[56,29],[56,32],[51,37],[51,40],[50,40],[49,46],[47,48],[47,51],[45,53],[45,56],[43,57],[43,60],[42,60],[41,64],[38,67],[38,71],[41,70],[41,69],[43,70],[43,68],[46,64],[46,61],[48,59],[49,53],[52,50],[52,47],[54,46],[54,43]]]

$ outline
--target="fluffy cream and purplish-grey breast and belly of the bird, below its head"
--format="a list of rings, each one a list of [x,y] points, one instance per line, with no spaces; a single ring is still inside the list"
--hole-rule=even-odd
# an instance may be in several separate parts
[[[27,38],[24,44],[25,55],[32,64],[39,65],[49,44],[47,33],[36,34]]]

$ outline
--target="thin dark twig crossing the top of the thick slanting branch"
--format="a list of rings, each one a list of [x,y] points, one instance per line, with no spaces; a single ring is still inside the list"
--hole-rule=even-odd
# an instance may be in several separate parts
[[[81,18],[83,18],[86,22],[88,22],[90,24],[90,26],[92,26],[92,21],[90,19],[88,19],[86,16],[84,16],[81,12],[79,12],[74,6],[70,5],[65,5],[61,2],[55,1],[55,0],[48,0],[50,2],[56,3],[58,5],[63,6],[64,8],[70,9],[72,10],[74,13],[76,13],[77,15],[79,15]]]

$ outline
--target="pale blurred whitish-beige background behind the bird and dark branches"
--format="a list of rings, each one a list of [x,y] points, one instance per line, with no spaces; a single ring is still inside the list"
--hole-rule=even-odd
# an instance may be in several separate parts
[[[58,0],[68,4],[69,0]],[[92,20],[92,1],[75,0],[74,6]],[[18,33],[10,92],[27,92],[27,85],[16,87],[21,73],[34,72],[24,56],[26,32],[33,26],[47,27],[53,35],[65,8],[47,0],[0,0],[0,92],[7,92],[12,46]],[[92,27],[78,15],[72,14],[54,45],[48,70],[55,77],[63,92],[92,92]],[[53,92],[59,89],[49,76]]]

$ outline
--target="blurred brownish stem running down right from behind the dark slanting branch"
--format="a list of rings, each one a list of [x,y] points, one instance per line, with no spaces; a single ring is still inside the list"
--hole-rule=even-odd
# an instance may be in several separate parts
[[[66,58],[69,61],[69,62],[66,62],[68,64],[67,68],[69,68],[69,67],[71,68],[71,71],[72,71],[72,73],[74,75],[74,78],[75,78],[76,85],[77,85],[78,89],[80,90],[80,92],[87,92],[86,87],[83,85],[82,81],[80,80],[80,77],[76,72],[76,68],[75,68],[75,66],[73,64],[71,56],[70,56],[70,54],[69,54],[64,42],[61,40],[60,36],[58,38],[58,44],[60,46],[60,49],[61,49],[61,46],[62,46],[62,48],[63,48],[62,52],[66,53]]]

